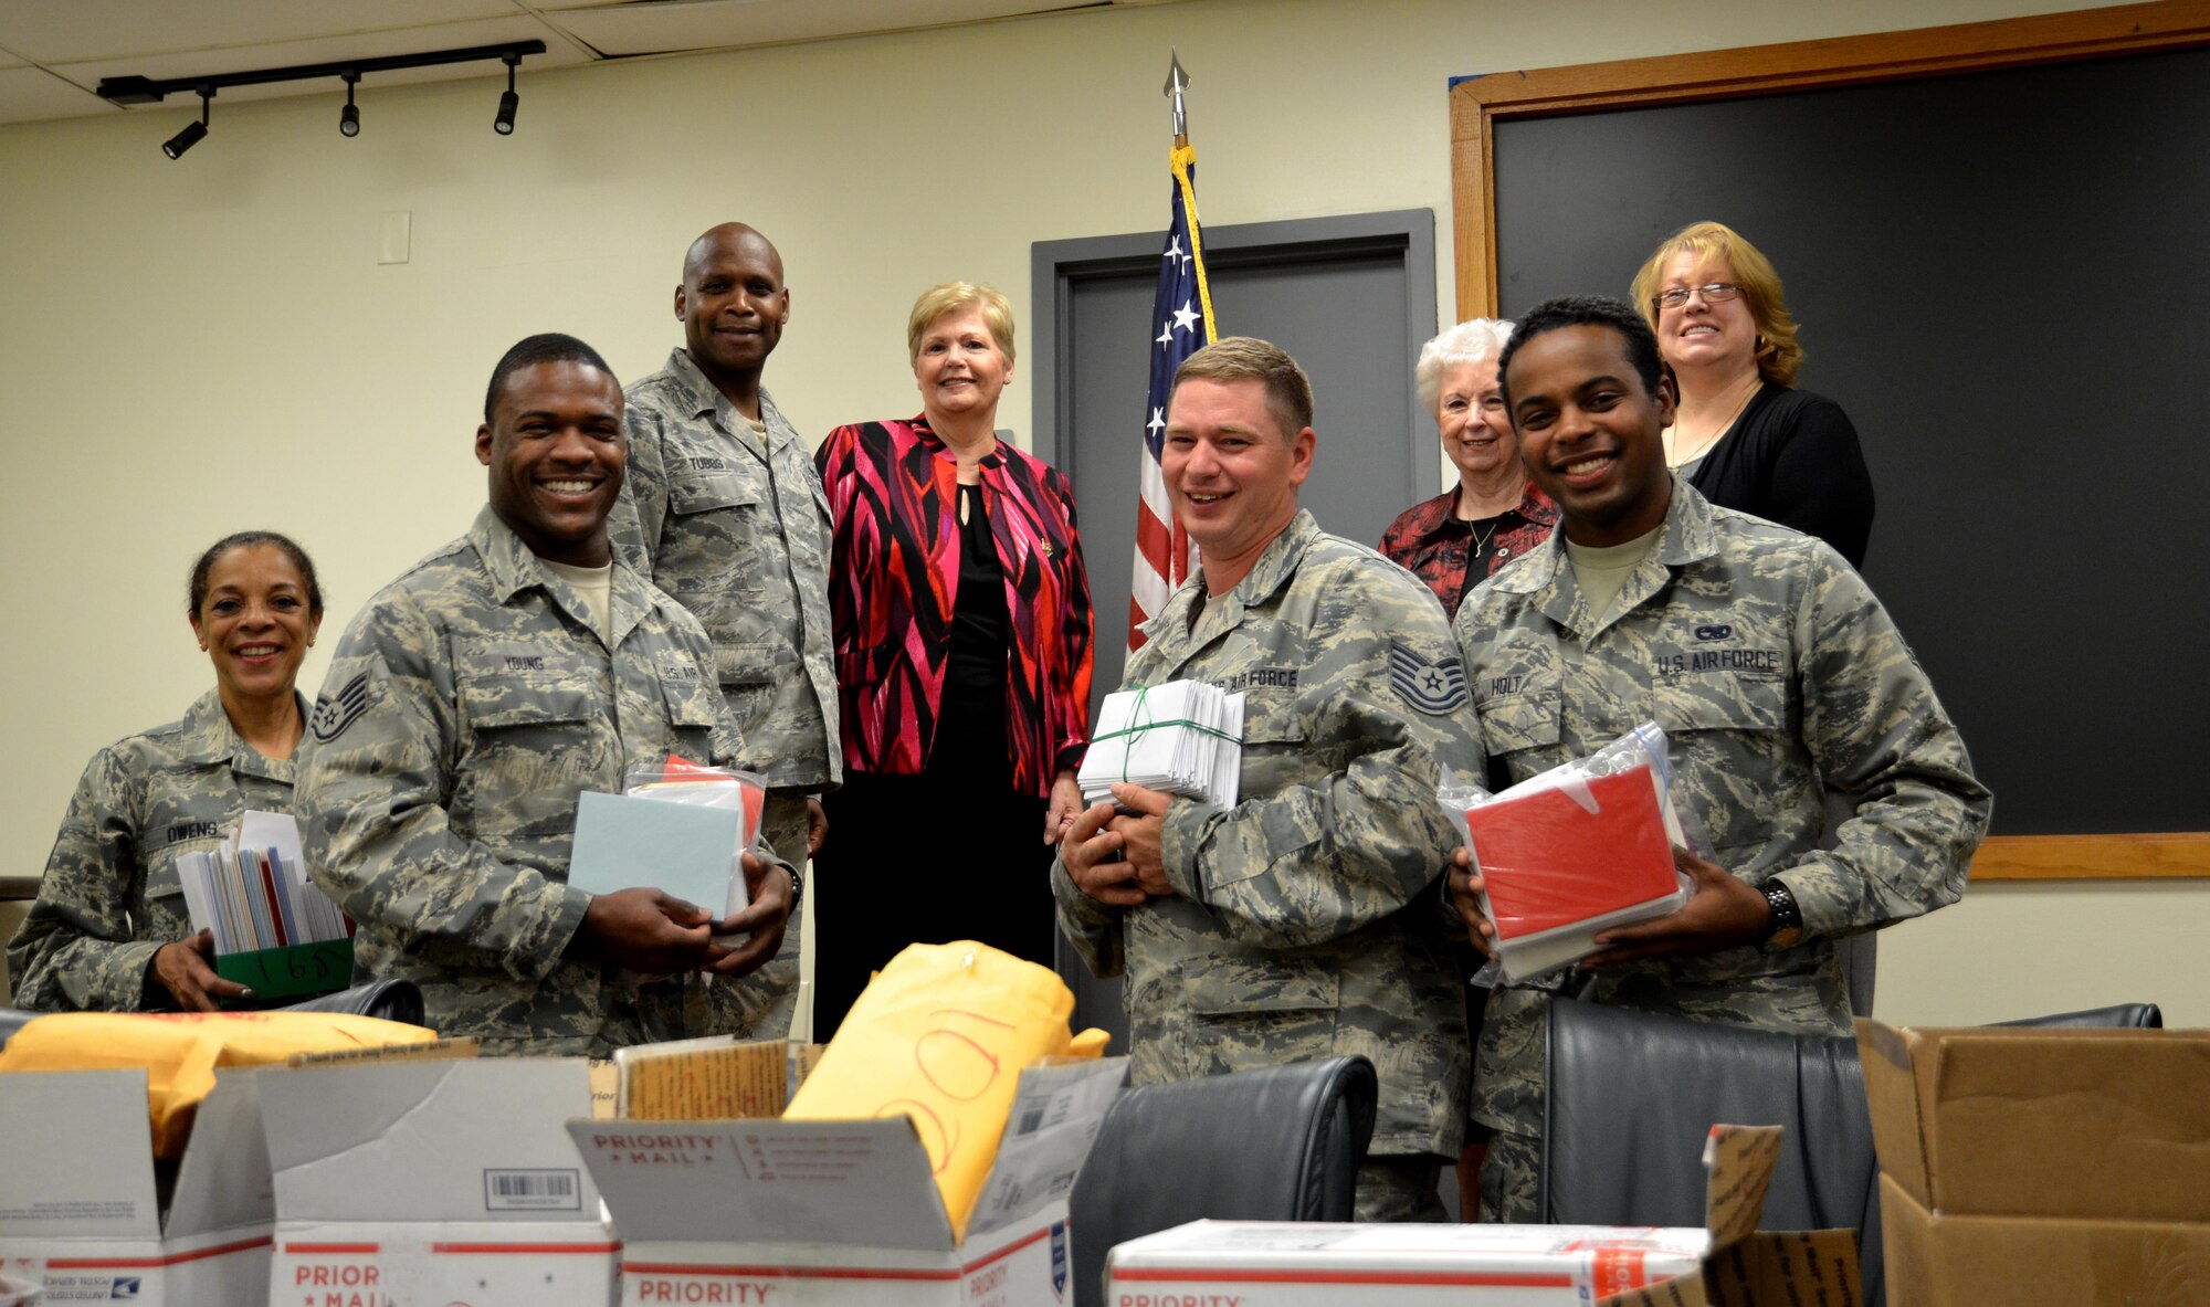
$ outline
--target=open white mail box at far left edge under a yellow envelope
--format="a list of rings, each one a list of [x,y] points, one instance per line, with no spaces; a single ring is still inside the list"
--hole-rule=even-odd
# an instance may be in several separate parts
[[[265,1305],[261,1075],[217,1071],[175,1168],[152,1157],[144,1071],[0,1075],[0,1276],[40,1303]]]

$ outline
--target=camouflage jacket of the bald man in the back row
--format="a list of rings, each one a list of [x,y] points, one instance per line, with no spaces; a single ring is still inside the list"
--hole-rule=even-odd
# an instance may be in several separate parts
[[[630,472],[608,530],[714,640],[747,766],[778,790],[820,793],[842,779],[829,499],[767,391],[760,419],[767,448],[690,353],[670,353],[628,389]]]

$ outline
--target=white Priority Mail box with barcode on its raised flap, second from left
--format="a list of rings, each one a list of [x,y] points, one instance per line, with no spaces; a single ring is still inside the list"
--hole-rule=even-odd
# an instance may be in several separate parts
[[[561,1128],[590,1111],[581,1058],[307,1066],[263,1091],[270,1303],[612,1303],[619,1243]]]

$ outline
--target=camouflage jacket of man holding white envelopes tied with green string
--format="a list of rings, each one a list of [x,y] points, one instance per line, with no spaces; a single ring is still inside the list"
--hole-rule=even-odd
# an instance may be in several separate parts
[[[1235,808],[1176,799],[1176,894],[1105,907],[1052,868],[1059,925],[1127,971],[1138,1082],[1364,1053],[1375,1152],[1456,1155],[1467,1049],[1436,876],[1456,839],[1436,766],[1481,771],[1443,609],[1410,572],[1311,512],[1204,612],[1202,576],[1145,625],[1123,684],[1244,691]]]

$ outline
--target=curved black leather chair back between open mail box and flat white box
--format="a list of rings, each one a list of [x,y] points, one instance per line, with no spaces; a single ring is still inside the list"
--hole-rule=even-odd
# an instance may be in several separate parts
[[[1074,1177],[1074,1303],[1116,1243],[1185,1221],[1348,1221],[1379,1082],[1366,1058],[1123,1091]]]

